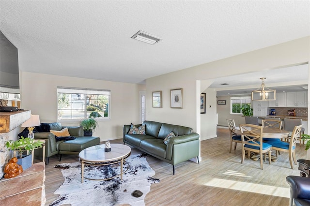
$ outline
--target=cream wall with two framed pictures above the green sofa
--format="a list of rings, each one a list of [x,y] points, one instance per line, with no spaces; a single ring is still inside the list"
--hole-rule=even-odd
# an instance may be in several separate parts
[[[147,120],[177,124],[196,129],[196,81],[180,71],[146,80]],[[183,109],[170,108],[170,89],[183,88]],[[152,107],[152,92],[162,91],[162,108]],[[200,93],[199,93],[200,97]],[[200,111],[200,110],[199,110]]]

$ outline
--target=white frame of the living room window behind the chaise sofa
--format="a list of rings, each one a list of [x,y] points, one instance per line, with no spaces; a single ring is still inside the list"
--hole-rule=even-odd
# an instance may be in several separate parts
[[[61,110],[59,108],[59,94],[65,93],[65,94],[82,94],[84,97],[81,99],[81,102],[83,103],[83,110],[84,110],[84,117],[82,118],[73,118],[74,116],[71,115],[71,118],[59,118],[59,111]],[[70,88],[70,87],[57,87],[57,120],[60,122],[79,122],[81,119],[89,118],[89,114],[87,114],[87,95],[104,95],[109,96],[108,97],[108,105],[106,106],[106,109],[108,109],[108,117],[96,117],[97,120],[110,120],[111,118],[111,108],[110,108],[110,101],[111,101],[111,91],[109,89],[93,89],[93,88]],[[97,97],[98,99],[98,97]],[[72,100],[72,96],[71,96]],[[97,100],[98,101],[98,100]],[[72,103],[70,104],[72,105]],[[71,107],[71,111],[73,108]]]

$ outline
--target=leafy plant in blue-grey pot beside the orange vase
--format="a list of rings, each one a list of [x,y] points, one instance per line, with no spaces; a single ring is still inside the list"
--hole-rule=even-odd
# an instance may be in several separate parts
[[[13,157],[17,156],[17,164],[22,165],[23,170],[25,170],[32,165],[31,150],[37,147],[42,147],[43,143],[44,142],[41,142],[40,140],[34,140],[28,137],[24,138],[21,136],[19,140],[7,141],[5,146],[13,152]],[[24,154],[25,152],[26,154]]]

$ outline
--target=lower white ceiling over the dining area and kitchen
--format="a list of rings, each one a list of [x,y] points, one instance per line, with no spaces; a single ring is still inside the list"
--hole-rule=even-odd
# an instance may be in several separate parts
[[[217,90],[217,96],[251,95],[252,90],[258,89],[264,77],[265,87],[276,89],[277,92],[307,91],[308,64],[290,66],[280,69],[256,73],[239,74],[214,79],[209,88]],[[221,85],[221,84],[227,85]],[[306,87],[306,88],[303,88]]]

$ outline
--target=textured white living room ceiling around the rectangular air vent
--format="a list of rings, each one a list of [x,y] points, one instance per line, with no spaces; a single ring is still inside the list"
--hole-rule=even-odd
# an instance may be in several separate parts
[[[129,83],[310,36],[307,0],[1,0],[0,8],[20,70]],[[139,30],[163,40],[131,39]]]

